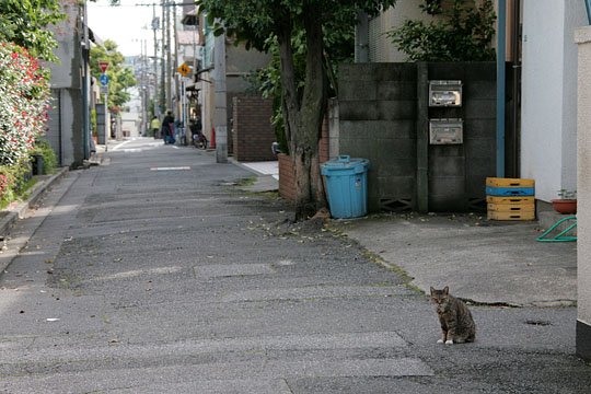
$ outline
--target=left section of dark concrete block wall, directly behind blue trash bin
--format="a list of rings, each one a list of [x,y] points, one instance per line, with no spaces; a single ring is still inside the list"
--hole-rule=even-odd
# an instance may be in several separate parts
[[[414,63],[340,66],[338,150],[369,159],[370,211],[414,208],[416,79]]]

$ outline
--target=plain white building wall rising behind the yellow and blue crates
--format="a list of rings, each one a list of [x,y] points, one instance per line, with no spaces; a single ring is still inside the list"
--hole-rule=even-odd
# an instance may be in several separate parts
[[[577,185],[577,47],[587,23],[579,0],[523,0],[521,177],[549,201]]]

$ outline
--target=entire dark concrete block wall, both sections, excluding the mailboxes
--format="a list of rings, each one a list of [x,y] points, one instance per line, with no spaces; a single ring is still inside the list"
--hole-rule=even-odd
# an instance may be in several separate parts
[[[430,211],[486,207],[485,178],[495,176],[496,169],[495,63],[426,66],[427,80],[421,82],[417,63],[340,66],[338,152],[370,160],[370,212],[416,210],[419,171],[427,171]],[[428,80],[461,80],[463,105],[436,108],[419,103],[419,93],[427,96]],[[432,118],[462,118],[463,143],[431,146],[428,138],[419,139],[428,136],[428,121],[419,119]],[[427,169],[419,169],[419,162]]]

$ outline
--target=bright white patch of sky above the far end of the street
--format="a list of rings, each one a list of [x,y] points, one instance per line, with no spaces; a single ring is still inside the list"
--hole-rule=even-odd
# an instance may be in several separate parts
[[[141,55],[141,40],[147,40],[148,53],[153,51],[152,3],[160,0],[120,0],[111,7],[108,0],[88,1],[89,26],[102,40],[112,39],[124,56]],[[141,5],[149,4],[149,5]],[[162,9],[155,8],[157,16]]]

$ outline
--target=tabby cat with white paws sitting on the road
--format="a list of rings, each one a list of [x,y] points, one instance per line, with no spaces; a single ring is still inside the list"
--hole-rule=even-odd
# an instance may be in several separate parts
[[[436,290],[431,287],[431,301],[436,304],[443,336],[438,344],[452,345],[474,341],[476,325],[466,304],[450,294],[449,287]]]

